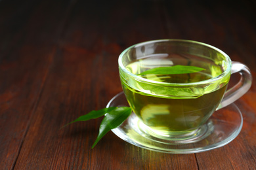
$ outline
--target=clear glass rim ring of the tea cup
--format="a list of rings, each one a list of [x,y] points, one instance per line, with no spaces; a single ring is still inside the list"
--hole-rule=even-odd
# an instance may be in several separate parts
[[[212,48],[213,50],[216,50],[217,52],[223,54],[224,58],[226,58],[226,61],[228,61],[228,67],[223,71],[223,73],[221,73],[221,75],[215,76],[215,77],[207,79],[207,80],[202,80],[199,82],[190,82],[190,83],[171,83],[171,82],[158,82],[158,81],[154,81],[154,80],[148,80],[146,78],[142,78],[141,76],[137,76],[137,75],[129,72],[125,68],[125,66],[123,65],[123,63],[121,61],[124,54],[131,48],[136,48],[138,46],[143,46],[146,44],[152,44],[152,43],[156,43],[156,42],[167,42],[167,41],[169,41],[169,42],[190,42],[193,44],[200,44],[202,46],[207,46],[209,48]],[[128,48],[123,50],[123,52],[121,52],[121,54],[119,55],[118,65],[119,65],[119,68],[121,68],[122,71],[124,71],[127,75],[132,76],[133,78],[135,78],[136,80],[139,80],[140,82],[147,82],[149,84],[155,84],[155,85],[158,84],[160,86],[198,86],[198,85],[202,85],[202,84],[211,84],[212,82],[215,82],[215,81],[223,78],[224,76],[226,76],[231,71],[232,61],[231,61],[230,57],[226,53],[224,53],[222,50],[220,50],[219,48],[216,48],[215,46],[211,46],[211,45],[203,43],[203,42],[184,40],[184,39],[158,39],[158,40],[152,40],[152,41],[139,42],[137,44],[129,46]]]

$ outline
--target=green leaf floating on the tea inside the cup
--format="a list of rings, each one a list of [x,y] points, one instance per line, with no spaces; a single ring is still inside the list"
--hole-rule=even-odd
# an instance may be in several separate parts
[[[155,75],[179,75],[179,74],[188,74],[188,73],[196,73],[199,71],[203,71],[205,69],[190,66],[190,65],[174,65],[171,67],[157,67],[153,69],[148,69],[138,75],[148,75],[148,74],[155,74]]]

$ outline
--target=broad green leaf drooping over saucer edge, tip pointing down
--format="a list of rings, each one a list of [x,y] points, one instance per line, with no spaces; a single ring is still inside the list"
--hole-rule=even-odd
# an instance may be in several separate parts
[[[120,126],[131,114],[131,108],[130,107],[119,107],[117,109],[114,109],[110,112],[108,112],[101,124],[100,124],[100,130],[98,132],[98,137],[96,138],[95,143],[93,144],[92,148],[100,141],[100,139],[108,133],[111,129],[114,129],[118,126]]]

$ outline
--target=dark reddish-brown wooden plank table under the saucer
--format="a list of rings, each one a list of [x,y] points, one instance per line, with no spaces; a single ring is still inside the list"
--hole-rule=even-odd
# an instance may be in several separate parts
[[[255,1],[0,1],[0,169],[256,169]],[[145,150],[101,120],[60,127],[121,92],[117,58],[154,39],[220,48],[252,72],[231,143],[198,154]]]

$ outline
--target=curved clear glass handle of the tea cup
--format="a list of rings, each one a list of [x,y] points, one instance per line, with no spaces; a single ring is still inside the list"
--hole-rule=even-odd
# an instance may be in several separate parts
[[[251,87],[251,71],[246,65],[237,61],[232,61],[231,75],[233,73],[240,73],[241,78],[236,85],[226,90],[223,100],[221,101],[221,104],[219,105],[217,110],[226,107],[227,105],[242,97],[242,95],[244,95]]]

